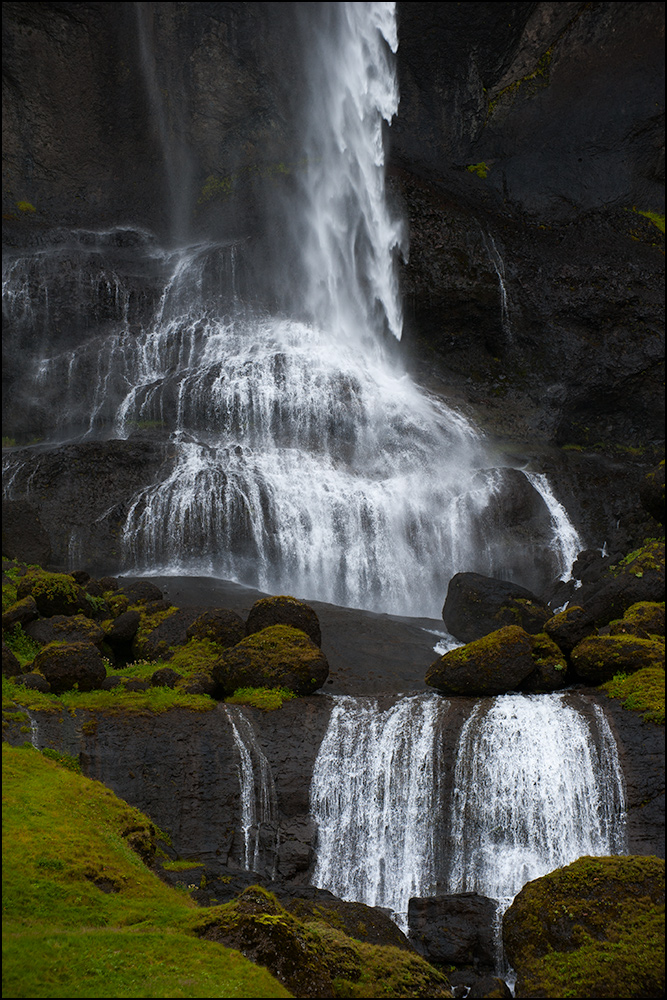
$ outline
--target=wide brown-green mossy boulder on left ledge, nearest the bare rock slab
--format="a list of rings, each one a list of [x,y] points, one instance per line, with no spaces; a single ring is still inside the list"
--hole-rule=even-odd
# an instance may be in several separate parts
[[[272,625],[247,636],[223,653],[212,673],[220,697],[246,687],[313,694],[328,676],[324,653],[305,632],[289,625]]]

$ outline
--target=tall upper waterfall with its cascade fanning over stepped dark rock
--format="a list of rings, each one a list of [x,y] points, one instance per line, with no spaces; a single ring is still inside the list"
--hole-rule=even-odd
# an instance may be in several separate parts
[[[275,199],[284,225],[267,269],[279,308],[253,292],[251,239],[164,247],[119,226],[8,254],[8,349],[25,377],[6,406],[43,440],[30,461],[8,452],[5,494],[30,497],[40,448],[150,436],[168,445],[157,474],[95,515],[124,520],[124,573],[210,575],[419,617],[439,617],[457,572],[539,589],[569,574],[566,513],[554,522],[535,480],[540,523],[530,540],[508,536],[489,515],[496,478],[476,476],[496,464],[482,436],[396,357],[404,238],[383,148],[398,107],[395,4],[296,6],[308,8],[308,86],[301,167],[282,209]],[[159,53],[142,25],[157,101]],[[61,545],[73,568],[87,531]]]

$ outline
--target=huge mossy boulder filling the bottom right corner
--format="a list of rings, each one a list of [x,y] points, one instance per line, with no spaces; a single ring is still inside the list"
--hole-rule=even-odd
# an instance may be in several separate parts
[[[528,882],[503,919],[517,997],[660,997],[665,863],[583,857]]]

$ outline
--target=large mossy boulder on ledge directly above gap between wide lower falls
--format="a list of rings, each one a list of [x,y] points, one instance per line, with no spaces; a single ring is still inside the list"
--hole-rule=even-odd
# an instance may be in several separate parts
[[[531,636],[518,625],[452,649],[431,664],[425,681],[448,695],[495,695],[516,691],[535,670]]]

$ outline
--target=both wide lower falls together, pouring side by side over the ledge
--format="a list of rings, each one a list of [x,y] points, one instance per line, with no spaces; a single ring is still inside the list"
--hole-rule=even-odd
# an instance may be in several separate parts
[[[624,783],[597,705],[571,693],[479,701],[454,759],[438,695],[335,699],[315,762],[313,881],[389,908],[475,891],[498,916],[529,880],[582,855],[627,852]],[[449,773],[448,773],[449,771]]]

